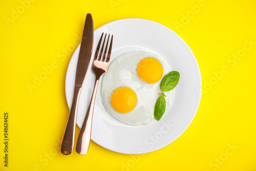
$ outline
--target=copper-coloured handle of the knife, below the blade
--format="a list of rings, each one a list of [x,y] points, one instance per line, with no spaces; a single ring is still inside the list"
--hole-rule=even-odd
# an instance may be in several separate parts
[[[69,119],[60,148],[60,151],[63,155],[69,155],[73,151],[75,141],[76,116],[81,90],[82,87],[75,86],[72,106],[69,113]]]

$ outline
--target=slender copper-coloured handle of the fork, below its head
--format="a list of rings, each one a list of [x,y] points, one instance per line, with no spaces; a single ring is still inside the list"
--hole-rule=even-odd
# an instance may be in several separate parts
[[[92,119],[93,119],[93,109],[96,98],[96,92],[98,88],[99,78],[95,78],[95,84],[93,89],[92,98],[87,110],[86,118],[83,121],[77,143],[76,143],[76,152],[80,155],[85,155],[88,152],[90,140],[91,140],[91,130],[92,130]]]

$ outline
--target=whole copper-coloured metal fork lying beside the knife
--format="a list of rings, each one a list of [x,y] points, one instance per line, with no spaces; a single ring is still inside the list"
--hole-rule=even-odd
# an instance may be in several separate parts
[[[84,118],[84,121],[83,121],[83,124],[81,127],[81,131],[79,133],[77,143],[76,143],[76,152],[81,155],[87,154],[89,145],[90,145],[93,109],[94,109],[94,102],[95,102],[95,98],[96,98],[96,92],[97,92],[97,88],[98,88],[99,78],[102,75],[104,75],[106,73],[106,71],[108,71],[108,67],[109,67],[113,35],[111,36],[110,46],[109,46],[109,50],[108,50],[108,56],[106,56],[106,54],[107,54],[106,52],[108,49],[110,34],[109,34],[108,40],[106,41],[106,46],[104,48],[104,43],[105,43],[105,39],[106,39],[106,34],[105,34],[103,44],[101,46],[100,55],[98,56],[103,34],[104,33],[101,34],[99,44],[98,44],[98,47],[97,47],[97,50],[96,50],[96,53],[94,56],[93,65],[92,65],[92,70],[96,76],[94,89],[93,89],[93,93],[92,93],[92,98],[91,98],[91,101],[89,104],[89,108],[87,110],[86,118]],[[103,57],[101,57],[102,53],[103,53],[103,49],[105,49],[105,51],[104,51]]]

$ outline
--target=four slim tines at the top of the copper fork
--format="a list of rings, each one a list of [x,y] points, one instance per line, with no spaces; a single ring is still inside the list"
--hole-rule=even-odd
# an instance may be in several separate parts
[[[113,35],[111,36],[110,45],[109,45],[109,39],[110,39],[110,34],[109,34],[108,40],[106,40],[106,46],[104,46],[105,39],[106,39],[106,33],[104,35],[104,40],[102,41],[103,34],[104,33],[101,34],[101,37],[99,39],[99,43],[98,43],[98,47],[97,47],[97,50],[96,50],[96,53],[95,53],[95,56],[94,56],[94,60],[109,62],[110,54],[111,54],[111,50],[112,50]],[[101,44],[102,44],[102,46],[101,46]],[[103,50],[104,50],[104,54],[102,55]],[[100,51],[100,54],[99,54],[99,51]],[[108,54],[108,56],[106,56],[106,54]]]

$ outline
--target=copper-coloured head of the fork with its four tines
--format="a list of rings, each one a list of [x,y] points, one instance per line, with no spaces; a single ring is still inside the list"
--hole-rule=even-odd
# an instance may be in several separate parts
[[[101,34],[101,37],[99,39],[99,43],[98,43],[98,46],[97,46],[97,49],[95,52],[93,66],[92,66],[93,72],[95,73],[96,76],[103,75],[106,73],[106,71],[108,71],[110,55],[111,55],[111,50],[112,50],[113,35],[111,36],[110,46],[108,46],[110,34],[108,36],[108,40],[106,40],[106,45],[104,46],[106,34],[105,34],[104,40],[102,42],[103,34],[104,33]],[[102,46],[101,46],[101,43],[102,43]],[[104,53],[103,53],[103,50],[104,50]]]

